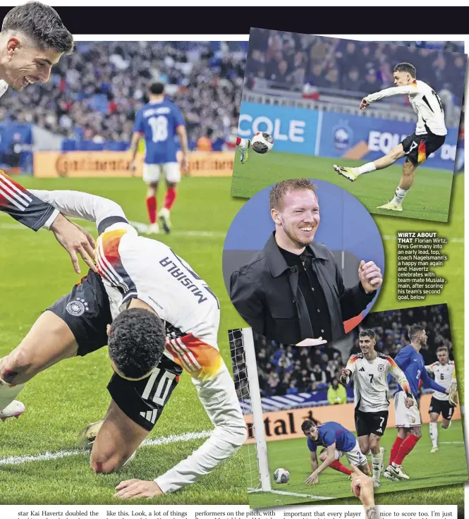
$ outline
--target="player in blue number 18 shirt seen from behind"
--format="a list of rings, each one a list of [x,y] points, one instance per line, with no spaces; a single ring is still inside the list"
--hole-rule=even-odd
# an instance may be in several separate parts
[[[147,211],[150,220],[148,233],[159,233],[157,190],[161,174],[166,179],[167,189],[164,195],[163,208],[158,213],[158,220],[164,232],[170,233],[171,220],[169,216],[174,200],[176,200],[176,185],[181,181],[181,171],[176,158],[178,152],[176,138],[181,142],[183,153],[181,169],[185,170],[188,161],[188,135],[181,109],[164,97],[164,85],[162,83],[154,83],[150,86],[149,97],[150,102],[135,114],[132,142],[130,142],[132,161],[129,168],[135,171],[138,143],[141,138],[144,138],[143,180],[148,185]]]

